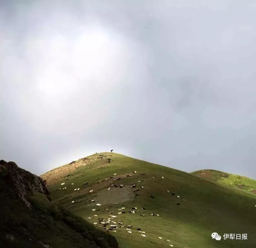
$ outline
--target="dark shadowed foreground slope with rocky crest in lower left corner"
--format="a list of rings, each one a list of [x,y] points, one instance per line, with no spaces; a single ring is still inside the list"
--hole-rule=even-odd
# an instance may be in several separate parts
[[[43,180],[0,160],[0,247],[117,248],[116,239],[50,202]]]

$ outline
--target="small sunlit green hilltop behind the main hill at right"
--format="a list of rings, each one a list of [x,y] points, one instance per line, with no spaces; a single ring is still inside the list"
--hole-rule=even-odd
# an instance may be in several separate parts
[[[191,174],[223,186],[232,186],[240,190],[256,194],[256,180],[222,172],[219,170],[197,170]]]

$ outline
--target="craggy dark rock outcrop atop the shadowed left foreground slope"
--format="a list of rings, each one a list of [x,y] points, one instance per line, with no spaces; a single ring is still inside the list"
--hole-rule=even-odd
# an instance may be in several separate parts
[[[50,192],[46,181],[27,170],[19,168],[15,162],[0,160],[0,176],[29,208],[31,204],[26,199],[27,191],[37,191],[49,197]]]

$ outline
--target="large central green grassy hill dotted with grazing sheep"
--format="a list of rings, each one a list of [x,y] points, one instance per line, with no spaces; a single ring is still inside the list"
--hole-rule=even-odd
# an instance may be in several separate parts
[[[109,228],[121,248],[171,245],[175,248],[251,248],[256,245],[256,196],[190,173],[104,152],[73,161],[41,177],[47,180],[53,202],[97,223],[95,226],[99,229]],[[89,183],[84,186],[86,181]],[[65,185],[61,186],[63,182]],[[111,187],[120,184],[123,188]],[[80,190],[74,191],[77,188]],[[96,206],[97,203],[101,206]],[[122,207],[125,209],[120,210]],[[136,212],[129,213],[134,207]],[[103,222],[111,218],[118,228],[111,230],[113,223],[104,227],[101,218]],[[132,225],[129,228],[132,233],[127,232],[128,225]],[[138,228],[146,237],[141,236]],[[222,239],[212,239],[212,232],[218,232]],[[248,240],[224,240],[224,233],[247,233]]]

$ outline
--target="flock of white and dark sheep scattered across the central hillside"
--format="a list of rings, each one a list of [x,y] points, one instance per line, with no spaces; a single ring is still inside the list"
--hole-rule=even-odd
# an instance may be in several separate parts
[[[137,173],[137,171],[133,171],[133,173]],[[147,173],[145,173],[145,174],[147,174]],[[114,173],[114,176],[116,176],[116,173]],[[131,174],[127,175],[127,177],[130,177],[130,176],[132,176],[132,175],[131,175]],[[112,179],[112,178],[113,178],[113,177],[105,178],[105,180],[107,181],[107,180],[110,180],[110,179]],[[152,176],[152,178],[154,179],[155,177]],[[164,179],[164,176],[162,176],[161,178]],[[118,180],[121,180],[121,178],[119,177],[119,178],[117,178],[117,179],[114,179],[114,181],[118,181]],[[99,181],[99,183],[100,183],[100,182],[101,182],[101,181]],[[141,181],[138,181],[138,182],[140,183]],[[88,183],[89,183],[89,182],[84,182],[83,185],[84,185],[84,186],[87,186]],[[61,183],[60,185],[64,185],[64,184],[65,184],[65,183],[63,182],[63,183]],[[74,183],[71,183],[71,185],[74,185]],[[123,184],[120,184],[119,186],[111,184],[110,187],[107,188],[107,190],[111,190],[112,187],[123,188]],[[131,188],[135,188],[135,187],[136,187],[136,185],[132,183]],[[144,186],[140,186],[140,189],[143,189],[143,188],[144,188]],[[61,189],[61,188],[60,188],[60,189]],[[64,188],[62,188],[62,189],[66,189],[66,187],[64,187]],[[58,189],[58,190],[59,190],[59,189]],[[74,191],[79,191],[79,190],[80,190],[80,188],[74,189]],[[138,191],[138,190],[135,190],[135,191]],[[135,191],[134,191],[134,192],[135,192]],[[93,190],[90,190],[89,192],[92,193]],[[167,192],[170,193],[169,190],[167,190]],[[172,193],[172,195],[175,195],[175,193]],[[135,194],[135,196],[136,196],[136,194]],[[177,197],[177,198],[180,198],[179,195],[176,195],[176,197]],[[151,195],[151,198],[154,198],[154,196]],[[185,201],[185,200],[183,199],[183,201]],[[74,202],[75,202],[74,200],[71,201],[71,203],[74,203]],[[95,202],[95,200],[93,199],[93,200],[91,200],[90,202]],[[117,204],[118,204],[118,203],[115,203],[115,205],[117,205]],[[177,205],[180,205],[180,203],[177,203]],[[97,206],[97,207],[101,206],[101,203],[96,203],[96,206]],[[117,214],[114,214],[114,212],[111,212],[109,209],[104,209],[104,210],[102,210],[102,211],[108,211],[108,212],[110,213],[110,215],[108,216],[108,218],[107,218],[106,220],[105,220],[103,217],[102,217],[102,218],[98,218],[98,222],[94,222],[93,224],[94,224],[94,225],[102,224],[102,227],[103,227],[104,229],[106,229],[107,232],[109,232],[109,231],[116,232],[116,230],[114,230],[114,229],[117,229],[117,228],[126,228],[126,232],[127,232],[127,233],[132,233],[132,229],[130,229],[130,228],[132,228],[132,225],[123,225],[122,222],[118,222],[118,225],[119,225],[119,226],[118,226],[118,225],[116,225],[117,222],[113,221],[116,217],[118,217],[118,215],[123,214],[123,213],[126,213],[126,212],[123,211],[124,209],[125,209],[125,207],[122,207],[122,208],[118,209],[119,212],[118,212]],[[141,209],[145,209],[145,208],[142,207]],[[135,213],[137,212],[136,210],[137,210],[137,207],[133,207],[131,210],[129,210],[129,213],[135,214]],[[91,209],[91,211],[94,212],[94,211],[99,211],[99,210],[96,210],[96,208],[93,208],[93,209]],[[155,216],[155,215],[156,215],[157,217],[160,216],[159,214],[155,214],[155,213],[152,213],[151,215],[152,215],[152,216]],[[145,216],[145,215],[141,214],[141,216]],[[92,219],[93,217],[98,217],[98,216],[97,216],[97,214],[94,214],[92,217],[88,217],[88,219]],[[110,225],[109,225],[109,224],[110,224]],[[107,227],[107,225],[109,225],[109,228]],[[138,231],[139,233],[141,233],[141,236],[142,236],[142,237],[146,237],[146,233],[145,233],[144,231],[141,231],[141,228],[137,228],[137,231]],[[162,239],[162,237],[158,236],[158,239]],[[168,239],[165,239],[165,241],[166,241],[166,242],[170,242],[170,240],[168,240]],[[173,247],[172,244],[169,244],[169,246]]]

